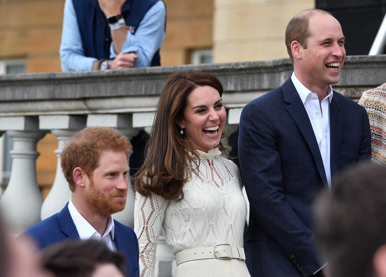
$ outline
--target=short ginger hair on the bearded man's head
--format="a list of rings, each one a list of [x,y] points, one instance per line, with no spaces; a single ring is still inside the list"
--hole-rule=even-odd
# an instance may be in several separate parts
[[[129,139],[113,128],[86,127],[75,133],[61,155],[61,167],[70,190],[75,191],[75,167],[80,167],[92,177],[92,172],[99,165],[99,156],[104,150],[125,152],[128,156],[131,149]]]

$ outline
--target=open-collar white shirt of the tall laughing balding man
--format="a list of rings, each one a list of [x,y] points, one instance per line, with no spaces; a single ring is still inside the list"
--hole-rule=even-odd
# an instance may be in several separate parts
[[[318,142],[320,155],[322,155],[328,187],[331,188],[330,103],[333,96],[332,87],[328,86],[327,96],[322,100],[321,105],[319,105],[318,95],[300,83],[295,76],[295,72],[292,73],[291,80],[303,102],[308,118],[310,118],[312,129]],[[322,106],[322,108],[320,106]]]

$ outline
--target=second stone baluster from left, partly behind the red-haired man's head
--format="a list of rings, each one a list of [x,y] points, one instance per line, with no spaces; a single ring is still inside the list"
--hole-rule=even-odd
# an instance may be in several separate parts
[[[58,149],[55,150],[58,162],[56,165],[56,174],[54,184],[43,201],[41,209],[41,220],[59,213],[64,205],[71,198],[71,191],[68,182],[64,178],[60,166],[60,157],[64,145],[69,138],[78,130],[86,125],[86,117],[73,115],[40,115],[39,127],[44,130],[51,130],[51,133],[58,138]]]

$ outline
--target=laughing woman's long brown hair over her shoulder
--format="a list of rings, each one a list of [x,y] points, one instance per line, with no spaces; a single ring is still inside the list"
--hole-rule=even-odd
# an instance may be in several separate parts
[[[181,135],[178,121],[183,117],[188,95],[199,86],[211,86],[222,96],[222,84],[209,73],[178,71],[166,81],[159,96],[144,164],[133,178],[135,190],[143,196],[154,193],[167,200],[184,197],[188,151],[196,156],[198,153],[185,134]],[[221,142],[218,147],[224,150]]]

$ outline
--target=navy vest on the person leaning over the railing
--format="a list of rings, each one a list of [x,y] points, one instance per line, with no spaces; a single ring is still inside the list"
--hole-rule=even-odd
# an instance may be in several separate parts
[[[112,42],[110,28],[99,7],[98,0],[72,0],[83,49],[86,57],[97,59],[110,58],[110,44]],[[158,0],[127,0],[122,7],[122,15],[127,26],[133,26],[133,34],[138,29],[139,23],[144,18],[146,12]],[[160,66],[161,58],[159,49],[154,54],[151,66]]]

